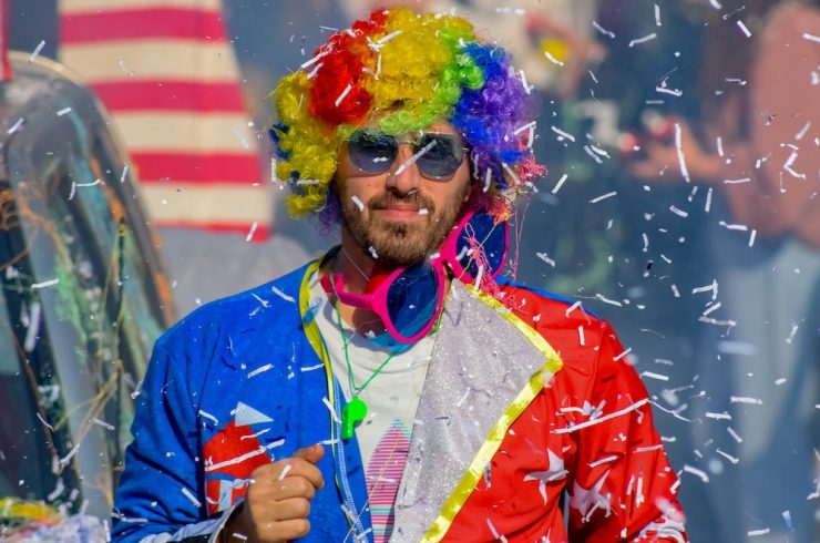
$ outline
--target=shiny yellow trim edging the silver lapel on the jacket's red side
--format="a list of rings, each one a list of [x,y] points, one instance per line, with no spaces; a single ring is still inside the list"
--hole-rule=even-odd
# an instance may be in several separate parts
[[[544,383],[546,383],[552,376],[557,373],[564,365],[558,354],[546,341],[546,339],[532,329],[526,322],[521,320],[510,309],[504,307],[503,304],[474,287],[468,288],[479,298],[479,300],[495,309],[502,317],[517,328],[519,331],[521,331],[533,344],[533,346],[544,355],[546,361],[539,371],[530,378],[526,386],[524,386],[521,392],[519,392],[512,403],[508,406],[498,422],[495,422],[493,429],[490,430],[490,434],[486,437],[481,449],[479,449],[479,452],[473,458],[464,475],[462,475],[455,490],[453,490],[450,498],[447,499],[444,505],[441,508],[441,511],[439,511],[439,516],[421,540],[424,543],[438,542],[444,537],[447,532],[450,530],[455,515],[461,511],[461,508],[464,506],[464,503],[468,498],[470,498],[473,490],[475,490],[475,485],[484,474],[484,469],[498,452],[504,436],[506,436],[506,432],[510,430],[510,427],[515,422],[515,419],[524,412],[530,403],[532,403],[541,389],[544,388]]]

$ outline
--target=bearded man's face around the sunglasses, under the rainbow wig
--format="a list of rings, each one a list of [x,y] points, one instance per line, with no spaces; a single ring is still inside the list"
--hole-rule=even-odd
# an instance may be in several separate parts
[[[458,133],[447,123],[434,123],[427,132]],[[433,180],[424,177],[416,164],[401,168],[412,156],[412,146],[402,144],[390,168],[373,175],[350,161],[347,144],[339,152],[335,183],[342,228],[388,266],[416,264],[438,248],[470,194],[467,158],[452,177]]]

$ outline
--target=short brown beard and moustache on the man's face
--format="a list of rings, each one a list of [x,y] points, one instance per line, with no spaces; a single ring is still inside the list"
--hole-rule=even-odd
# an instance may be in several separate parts
[[[380,264],[401,267],[421,262],[450,233],[469,194],[470,183],[464,183],[464,188],[441,209],[437,209],[433,202],[420,193],[401,197],[385,192],[366,204],[369,218],[365,217],[365,213],[351,199],[344,184],[337,184],[336,189],[341,206],[342,224],[361,248],[370,253],[375,250]],[[404,223],[387,221],[379,216],[377,209],[397,204],[417,205],[420,209],[427,209],[426,221]]]

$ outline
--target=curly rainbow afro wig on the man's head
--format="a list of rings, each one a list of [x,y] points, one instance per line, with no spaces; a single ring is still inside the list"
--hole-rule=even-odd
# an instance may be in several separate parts
[[[544,172],[530,150],[529,94],[508,53],[480,41],[467,20],[373,11],[332,34],[270,95],[276,176],[293,191],[288,211],[334,213],[339,147],[367,123],[399,134],[447,121],[470,150],[475,183],[492,194],[523,189]]]

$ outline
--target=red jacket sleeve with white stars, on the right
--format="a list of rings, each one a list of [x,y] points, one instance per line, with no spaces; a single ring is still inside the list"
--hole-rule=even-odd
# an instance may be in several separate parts
[[[585,408],[560,430],[575,444],[570,540],[685,542],[678,479],[653,426],[646,388],[615,332],[599,326]]]

